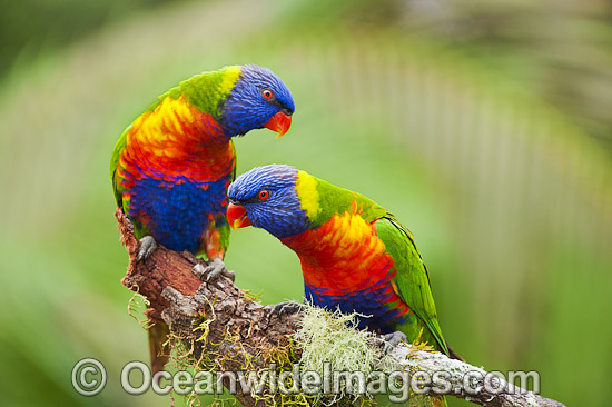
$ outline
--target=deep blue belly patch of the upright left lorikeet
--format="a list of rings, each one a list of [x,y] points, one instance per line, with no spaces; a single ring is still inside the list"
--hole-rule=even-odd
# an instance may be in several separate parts
[[[175,182],[144,178],[130,188],[128,216],[137,235],[151,235],[171,250],[201,251],[204,231],[209,219],[226,225],[226,182],[230,175],[215,182]],[[141,236],[138,236],[141,237]]]

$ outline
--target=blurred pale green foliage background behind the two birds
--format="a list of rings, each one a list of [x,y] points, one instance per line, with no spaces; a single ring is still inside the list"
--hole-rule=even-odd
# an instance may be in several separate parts
[[[236,140],[238,173],[292,163],[416,235],[447,340],[542,393],[606,406],[612,368],[612,6],[583,1],[2,1],[3,406],[168,406],[129,396],[147,360],[127,314],[108,162],[157,95],[225,64],[289,86],[279,140]],[[233,235],[237,284],[299,299],[295,255]],[[97,397],[70,384],[96,357]],[[177,405],[182,401],[177,399]],[[466,405],[451,401],[451,405]]]

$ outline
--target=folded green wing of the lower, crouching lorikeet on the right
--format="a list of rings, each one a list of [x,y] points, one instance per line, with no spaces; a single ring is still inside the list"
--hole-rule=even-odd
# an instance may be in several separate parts
[[[412,232],[391,214],[376,221],[378,238],[383,240],[386,251],[393,257],[397,274],[393,282],[402,300],[412,309],[419,324],[405,324],[398,330],[406,334],[409,340],[416,339],[422,327],[423,339],[448,355],[446,341],[442,336],[435,310],[430,275],[421,254],[414,244]]]

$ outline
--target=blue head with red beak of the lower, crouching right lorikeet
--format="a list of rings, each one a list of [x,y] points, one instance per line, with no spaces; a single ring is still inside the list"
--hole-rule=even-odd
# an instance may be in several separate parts
[[[239,176],[227,190],[229,225],[253,225],[279,239],[304,232],[310,222],[297,196],[297,177],[295,168],[276,163]]]

